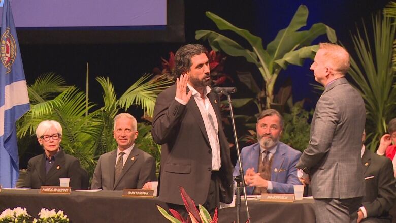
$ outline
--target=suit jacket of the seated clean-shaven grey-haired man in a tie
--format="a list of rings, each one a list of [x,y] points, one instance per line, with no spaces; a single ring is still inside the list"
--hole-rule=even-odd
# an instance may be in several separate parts
[[[119,179],[114,183],[116,159],[117,150],[99,157],[93,173],[91,189],[141,189],[145,183],[157,180],[154,158],[135,145],[122,168]]]

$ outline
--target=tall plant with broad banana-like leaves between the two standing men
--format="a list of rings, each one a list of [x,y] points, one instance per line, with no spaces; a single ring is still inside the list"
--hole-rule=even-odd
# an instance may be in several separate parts
[[[281,29],[267,48],[263,48],[260,37],[251,34],[248,30],[234,26],[218,15],[206,12],[220,30],[234,31],[248,41],[251,49],[242,47],[236,41],[212,30],[197,30],[195,39],[208,40],[212,49],[222,50],[230,56],[243,56],[248,62],[254,63],[265,81],[265,103],[258,98],[260,108],[270,108],[274,99],[274,84],[279,73],[288,65],[302,66],[304,59],[313,58],[318,45],[311,45],[319,36],[326,34],[332,43],[337,41],[335,31],[323,23],[316,23],[308,30],[300,30],[307,25],[308,8],[301,5],[289,25]],[[248,85],[249,86],[249,85]],[[257,92],[259,95],[259,92]]]

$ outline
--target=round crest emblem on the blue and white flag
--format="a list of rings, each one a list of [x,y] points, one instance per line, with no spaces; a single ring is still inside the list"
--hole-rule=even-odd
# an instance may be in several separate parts
[[[15,39],[11,34],[10,28],[2,34],[0,39],[0,59],[4,67],[6,67],[6,74],[11,72],[11,66],[16,57]]]

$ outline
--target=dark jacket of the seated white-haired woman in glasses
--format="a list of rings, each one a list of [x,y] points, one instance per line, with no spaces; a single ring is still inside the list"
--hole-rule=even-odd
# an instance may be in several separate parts
[[[40,186],[60,186],[59,178],[70,178],[72,189],[81,189],[80,161],[61,149],[48,173],[45,172],[45,155],[37,155],[29,160],[24,188],[40,189]]]

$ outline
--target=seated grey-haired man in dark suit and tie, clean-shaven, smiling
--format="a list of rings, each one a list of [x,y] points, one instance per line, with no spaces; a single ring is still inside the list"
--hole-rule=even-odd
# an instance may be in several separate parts
[[[113,134],[118,147],[99,157],[91,189],[140,189],[146,182],[156,181],[154,158],[135,145],[138,131],[134,116],[115,116]]]

